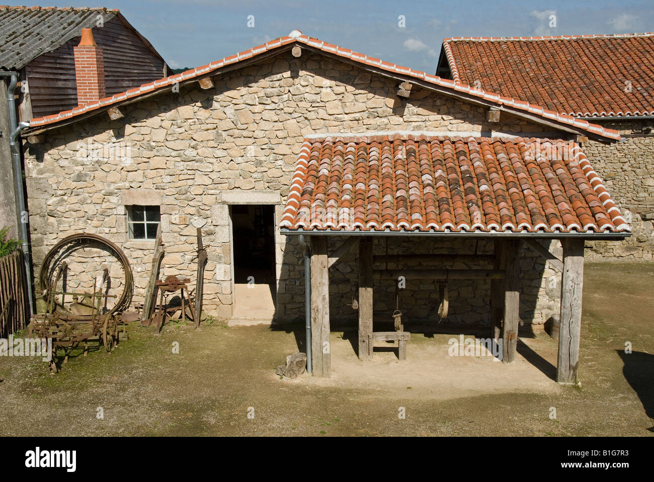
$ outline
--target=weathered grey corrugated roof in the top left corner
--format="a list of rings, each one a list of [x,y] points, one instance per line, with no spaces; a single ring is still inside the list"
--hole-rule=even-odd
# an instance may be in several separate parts
[[[0,68],[20,70],[92,28],[97,16],[108,22],[118,10],[107,8],[0,6]]]

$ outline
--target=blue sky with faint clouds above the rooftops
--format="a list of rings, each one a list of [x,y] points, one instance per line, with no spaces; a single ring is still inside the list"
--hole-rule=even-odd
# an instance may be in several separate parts
[[[105,0],[106,1],[106,0]],[[198,67],[299,29],[372,57],[436,72],[443,38],[654,31],[654,0],[113,0],[173,69]]]

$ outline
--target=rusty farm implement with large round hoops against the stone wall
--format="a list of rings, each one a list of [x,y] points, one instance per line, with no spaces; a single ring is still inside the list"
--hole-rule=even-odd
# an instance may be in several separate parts
[[[111,278],[109,270],[103,270],[100,285],[94,281],[93,293],[76,292],[67,289],[69,265],[65,259],[78,249],[102,249],[114,257],[124,273],[124,287],[120,295],[110,295]],[[55,353],[64,349],[63,363],[67,362],[71,351],[84,344],[84,356],[88,353],[89,342],[104,346],[107,353],[118,344],[121,334],[127,338],[122,312],[131,303],[133,295],[133,276],[129,261],[123,251],[111,241],[97,234],[74,234],[64,238],[48,251],[39,274],[41,295],[46,302],[44,313],[32,317],[28,333],[30,338],[52,340],[52,359],[50,370],[58,371]],[[61,281],[61,289],[57,289]],[[69,298],[68,306],[67,297]],[[109,308],[108,300],[115,300]]]

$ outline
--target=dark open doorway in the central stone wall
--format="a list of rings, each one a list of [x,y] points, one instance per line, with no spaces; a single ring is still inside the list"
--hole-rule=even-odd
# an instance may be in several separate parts
[[[232,206],[234,283],[275,285],[275,206]]]

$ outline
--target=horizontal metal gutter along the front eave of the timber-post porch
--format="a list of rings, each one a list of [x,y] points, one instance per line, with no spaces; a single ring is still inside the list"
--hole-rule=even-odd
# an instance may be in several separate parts
[[[491,232],[486,231],[472,231],[472,232],[456,232],[456,231],[443,231],[443,232],[425,232],[425,231],[311,231],[304,229],[287,229],[281,228],[279,230],[285,236],[294,236],[296,234],[305,236],[432,236],[435,238],[540,238],[540,239],[562,239],[562,238],[583,238],[589,241],[608,241],[608,240],[623,240],[631,236],[631,233],[504,233],[504,232]]]

